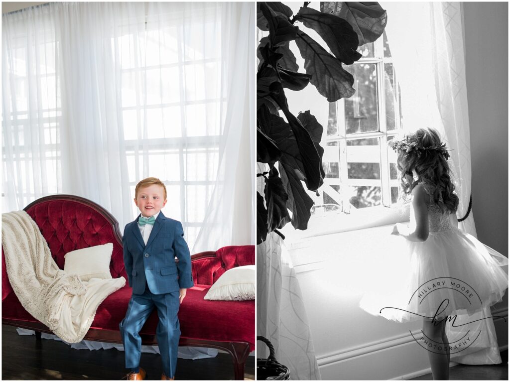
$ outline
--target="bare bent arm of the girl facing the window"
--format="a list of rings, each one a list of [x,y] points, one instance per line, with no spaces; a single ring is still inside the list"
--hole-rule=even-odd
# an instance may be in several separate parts
[[[403,224],[395,224],[393,227],[393,235],[400,235],[410,241],[425,241],[428,238],[428,211],[427,211],[428,195],[422,185],[417,185],[411,192],[411,202],[413,203],[413,210],[415,224],[411,222],[411,226],[415,229],[412,231],[409,227]]]

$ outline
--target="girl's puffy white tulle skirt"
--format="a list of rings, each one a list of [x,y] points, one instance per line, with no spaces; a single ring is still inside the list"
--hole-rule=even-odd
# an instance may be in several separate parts
[[[430,233],[424,242],[392,236],[380,256],[386,266],[360,307],[389,320],[471,315],[501,300],[508,287],[508,260],[458,228]]]

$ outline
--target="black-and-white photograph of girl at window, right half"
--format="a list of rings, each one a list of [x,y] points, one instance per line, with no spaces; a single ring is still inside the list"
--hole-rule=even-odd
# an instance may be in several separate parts
[[[257,379],[508,379],[508,3],[257,3]]]

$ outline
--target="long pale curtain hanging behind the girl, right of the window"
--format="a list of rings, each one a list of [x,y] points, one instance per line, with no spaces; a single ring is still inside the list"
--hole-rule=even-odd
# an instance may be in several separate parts
[[[471,150],[466,90],[461,3],[382,3],[388,12],[386,33],[401,88],[403,127],[406,131],[431,126],[452,149],[451,161],[460,202],[457,218],[467,213],[471,194]],[[472,212],[461,229],[476,236]],[[489,308],[460,321],[474,321],[481,330],[476,347],[452,355],[465,364],[501,362]],[[455,338],[449,327],[449,338]]]

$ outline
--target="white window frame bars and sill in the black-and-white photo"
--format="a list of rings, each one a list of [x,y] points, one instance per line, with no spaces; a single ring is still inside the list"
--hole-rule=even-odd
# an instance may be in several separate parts
[[[330,235],[347,231],[361,230],[370,227],[394,224],[397,222],[409,221],[409,206],[402,205],[401,202],[392,203],[391,187],[398,187],[400,192],[400,184],[398,179],[391,179],[390,175],[390,157],[388,150],[388,136],[399,135],[403,133],[400,108],[400,91],[398,87],[398,79],[393,68],[394,83],[394,110],[395,110],[395,129],[388,131],[387,115],[386,115],[386,85],[385,85],[385,65],[392,64],[393,58],[385,57],[386,33],[373,43],[373,57],[362,57],[352,65],[373,64],[376,67],[376,92],[377,92],[377,121],[378,130],[373,132],[350,133],[347,134],[347,125],[345,123],[345,99],[341,98],[335,103],[337,115],[337,133],[327,135],[327,129],[324,129],[321,145],[324,147],[328,143],[336,142],[338,147],[338,164],[339,177],[325,177],[324,184],[319,188],[317,196],[315,193],[308,192],[314,200],[314,206],[324,205],[324,193],[334,199],[339,204],[339,212],[336,214],[315,213],[312,214],[307,231],[295,231],[293,227],[284,228],[283,233],[289,236],[292,244],[299,245],[309,238],[321,235]],[[389,45],[389,44],[388,44]],[[354,94],[355,97],[357,94]],[[355,100],[354,100],[355,102]],[[343,187],[349,187],[355,179],[349,179],[347,166],[347,150],[349,147],[347,141],[354,139],[376,138],[378,140],[380,179],[367,180],[373,181],[369,183],[377,183],[377,187],[381,187],[381,203],[378,206],[365,207],[360,209],[351,208],[349,192],[342,192]],[[374,146],[376,147],[376,146]],[[324,162],[326,163],[326,162]],[[352,162],[349,162],[352,163]],[[351,182],[349,182],[351,181]],[[338,185],[340,182],[340,191],[337,192],[331,186]],[[331,194],[326,191],[328,188]]]

